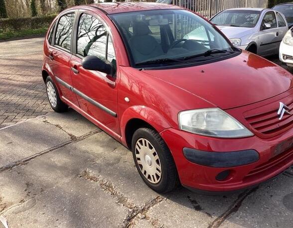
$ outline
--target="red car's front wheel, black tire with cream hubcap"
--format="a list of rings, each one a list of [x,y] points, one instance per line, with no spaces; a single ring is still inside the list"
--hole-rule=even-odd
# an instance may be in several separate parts
[[[179,178],[171,152],[155,130],[136,130],[132,152],[137,170],[149,188],[166,193],[178,186]]]

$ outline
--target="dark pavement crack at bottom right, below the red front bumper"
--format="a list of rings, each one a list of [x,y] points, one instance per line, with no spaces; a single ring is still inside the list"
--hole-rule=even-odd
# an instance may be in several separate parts
[[[259,187],[255,187],[250,190],[246,190],[245,192],[241,193],[238,198],[234,201],[234,203],[228,208],[227,211],[225,211],[221,216],[219,216],[217,219],[215,219],[208,228],[218,228],[221,226],[222,223],[224,223],[229,216],[231,216],[233,213],[236,213],[241,205],[242,202],[252,193],[254,193]]]

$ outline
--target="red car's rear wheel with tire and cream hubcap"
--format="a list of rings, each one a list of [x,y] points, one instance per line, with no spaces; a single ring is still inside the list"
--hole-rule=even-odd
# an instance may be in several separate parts
[[[61,101],[57,87],[50,76],[46,78],[46,92],[51,108],[55,112],[67,111],[68,106]]]

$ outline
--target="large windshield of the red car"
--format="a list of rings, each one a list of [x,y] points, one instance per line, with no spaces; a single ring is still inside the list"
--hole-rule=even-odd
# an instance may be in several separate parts
[[[110,17],[137,66],[205,61],[239,51],[213,25],[187,10],[149,10]]]

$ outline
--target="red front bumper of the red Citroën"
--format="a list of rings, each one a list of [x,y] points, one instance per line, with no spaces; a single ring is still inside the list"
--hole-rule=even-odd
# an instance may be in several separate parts
[[[192,189],[212,192],[237,191],[267,181],[293,165],[292,145],[280,153],[280,145],[292,139],[293,129],[270,140],[260,139],[257,136],[239,139],[210,138],[176,129],[166,129],[160,134],[173,155],[181,184]],[[187,160],[183,153],[184,148],[206,153],[237,151],[245,153],[245,150],[254,150],[258,153],[259,159],[247,165],[213,167]],[[276,151],[280,154],[276,155]],[[232,157],[229,159],[237,160]],[[227,170],[228,175],[219,180],[217,178],[219,174],[225,174]]]

